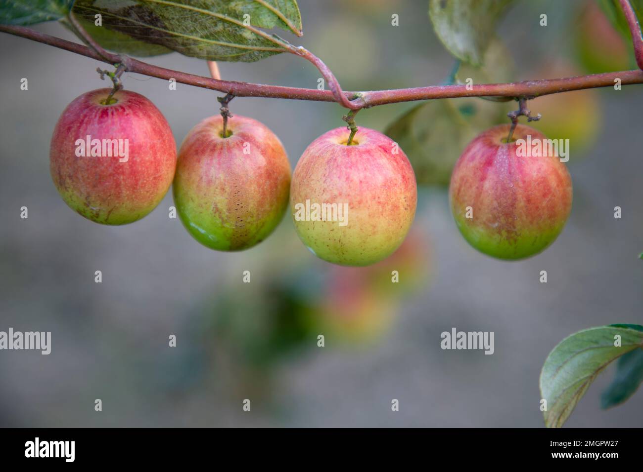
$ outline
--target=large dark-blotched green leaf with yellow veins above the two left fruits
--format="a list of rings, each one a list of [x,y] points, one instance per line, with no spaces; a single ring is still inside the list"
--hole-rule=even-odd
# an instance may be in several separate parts
[[[295,0],[77,0],[73,12],[91,22],[100,13],[99,28],[216,61],[253,62],[286,50],[285,40],[259,28],[302,29]],[[131,47],[121,39],[111,39],[112,51]]]

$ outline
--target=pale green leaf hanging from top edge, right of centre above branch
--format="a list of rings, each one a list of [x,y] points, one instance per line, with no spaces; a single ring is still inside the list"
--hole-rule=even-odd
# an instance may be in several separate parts
[[[514,0],[429,0],[433,30],[451,54],[473,66],[484,62],[496,23]]]

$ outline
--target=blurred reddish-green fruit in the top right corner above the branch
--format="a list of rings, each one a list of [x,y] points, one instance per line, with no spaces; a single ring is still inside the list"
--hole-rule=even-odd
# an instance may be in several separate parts
[[[636,68],[631,45],[594,1],[579,5],[574,48],[579,66],[589,74]]]

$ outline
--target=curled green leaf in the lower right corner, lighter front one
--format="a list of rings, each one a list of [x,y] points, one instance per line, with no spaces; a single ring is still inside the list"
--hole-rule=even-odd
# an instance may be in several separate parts
[[[643,332],[629,326],[584,329],[554,347],[540,372],[541,398],[547,400],[545,426],[563,426],[596,376],[613,360],[643,346]],[[616,335],[619,347],[614,345]]]

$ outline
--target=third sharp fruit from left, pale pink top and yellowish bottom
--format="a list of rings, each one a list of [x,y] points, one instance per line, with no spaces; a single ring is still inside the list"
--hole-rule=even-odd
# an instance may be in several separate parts
[[[336,128],[303,152],[291,184],[291,213],[297,234],[316,256],[365,266],[386,258],[404,241],[415,216],[417,184],[403,150],[388,136],[360,127],[356,145],[347,146],[348,138],[347,128]],[[339,225],[339,215],[314,220],[303,211],[306,200],[348,204],[347,224]]]

